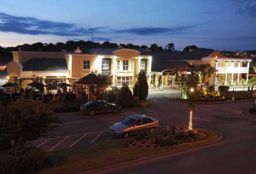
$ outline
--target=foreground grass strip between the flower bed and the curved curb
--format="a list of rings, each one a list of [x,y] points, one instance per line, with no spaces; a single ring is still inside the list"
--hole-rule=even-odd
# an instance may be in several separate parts
[[[151,155],[157,155],[182,148],[212,142],[220,138],[220,133],[200,129],[208,134],[208,138],[196,142],[162,147],[156,150],[128,148],[134,137],[113,140],[93,145],[67,148],[46,153],[44,167],[37,174],[73,174],[97,169],[117,163],[127,162]]]

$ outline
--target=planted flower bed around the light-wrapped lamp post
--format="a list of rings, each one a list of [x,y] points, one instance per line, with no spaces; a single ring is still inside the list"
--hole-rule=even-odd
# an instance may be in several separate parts
[[[156,129],[153,132],[143,132],[129,143],[130,148],[155,149],[173,145],[183,145],[189,142],[204,140],[208,134],[198,129],[172,130]]]

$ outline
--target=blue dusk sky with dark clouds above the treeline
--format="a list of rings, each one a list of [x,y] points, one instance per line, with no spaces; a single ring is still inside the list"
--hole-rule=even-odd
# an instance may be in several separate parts
[[[256,0],[0,0],[0,46],[73,41],[256,50]]]

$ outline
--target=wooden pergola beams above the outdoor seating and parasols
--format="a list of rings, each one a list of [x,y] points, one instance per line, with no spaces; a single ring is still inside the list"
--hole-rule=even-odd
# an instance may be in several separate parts
[[[46,84],[47,82],[50,82],[52,80],[56,80],[58,84],[60,84],[60,81],[61,80],[68,80],[69,81],[69,84],[71,85],[71,83],[74,81],[74,80],[79,80],[81,79],[80,77],[39,77],[39,78],[19,78],[18,77],[18,80],[20,82],[20,89],[21,89],[21,82],[23,82],[24,80],[32,80],[33,82],[36,82],[38,80],[45,80],[46,81]],[[57,84],[57,85],[58,85]],[[46,89],[47,90],[47,89]]]

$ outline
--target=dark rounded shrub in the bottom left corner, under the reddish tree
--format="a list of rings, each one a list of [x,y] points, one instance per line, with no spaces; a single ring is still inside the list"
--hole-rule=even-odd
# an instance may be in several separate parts
[[[39,169],[45,153],[41,148],[27,148],[20,156],[15,156],[15,150],[0,152],[0,171],[3,174],[26,173]]]

